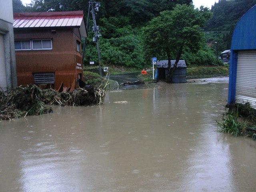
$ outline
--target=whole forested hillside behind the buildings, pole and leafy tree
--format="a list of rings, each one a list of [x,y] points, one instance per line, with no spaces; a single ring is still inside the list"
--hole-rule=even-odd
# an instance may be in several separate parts
[[[32,4],[28,6],[23,6],[20,0],[13,2],[14,12],[84,10],[86,16],[88,11],[88,1],[85,0],[32,0]],[[102,34],[100,38],[102,64],[138,68],[148,66],[149,58],[154,56],[148,55],[145,51],[142,28],[150,20],[158,17],[160,12],[172,10],[176,4],[192,4],[192,0],[99,0],[99,2],[101,7],[96,20]],[[208,8],[200,8],[199,11],[206,16],[205,18],[210,18],[212,14],[202,28],[206,31],[205,41],[200,44],[196,52],[186,50],[181,58],[190,66],[220,64],[216,59],[216,48],[218,47],[218,53],[228,48],[234,24],[255,2],[256,0],[221,0],[212,7],[211,11]],[[91,25],[92,20],[88,30],[85,64],[98,60],[96,46],[92,42]],[[157,24],[155,27],[158,27]],[[218,42],[218,46],[212,44],[215,41]],[[167,59],[167,56],[162,53],[158,58]]]

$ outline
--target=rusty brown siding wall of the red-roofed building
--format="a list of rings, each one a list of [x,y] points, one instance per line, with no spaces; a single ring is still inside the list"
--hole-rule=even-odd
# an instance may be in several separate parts
[[[55,88],[63,83],[64,88],[76,88],[76,78],[82,73],[82,47],[76,51],[76,40],[80,41],[77,28],[14,29],[15,40],[52,39],[52,50],[16,51],[18,85],[34,83],[34,73],[54,72]],[[76,35],[78,35],[78,37]],[[73,87],[72,87],[73,86]]]

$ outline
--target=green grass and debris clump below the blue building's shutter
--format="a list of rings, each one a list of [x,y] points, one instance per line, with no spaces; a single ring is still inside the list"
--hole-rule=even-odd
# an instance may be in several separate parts
[[[256,110],[246,104],[232,104],[227,106],[222,122],[218,122],[218,130],[234,136],[250,136],[256,138]]]

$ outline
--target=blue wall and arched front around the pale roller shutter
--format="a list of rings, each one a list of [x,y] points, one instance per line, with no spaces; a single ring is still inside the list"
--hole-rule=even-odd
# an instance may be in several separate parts
[[[236,99],[236,70],[239,50],[256,50],[256,5],[242,16],[234,29],[230,54],[228,104],[234,103]]]

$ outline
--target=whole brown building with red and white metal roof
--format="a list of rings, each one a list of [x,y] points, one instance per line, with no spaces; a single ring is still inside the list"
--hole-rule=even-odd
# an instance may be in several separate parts
[[[72,91],[83,78],[82,11],[14,13],[18,85]]]

